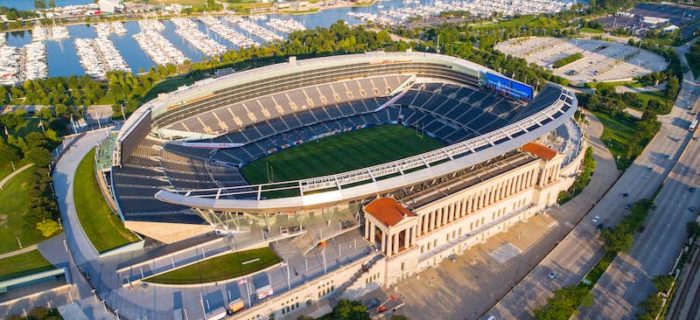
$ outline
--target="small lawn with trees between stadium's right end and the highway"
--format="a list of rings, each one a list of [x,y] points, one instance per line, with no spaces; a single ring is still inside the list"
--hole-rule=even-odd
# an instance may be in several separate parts
[[[624,159],[625,146],[630,143],[632,137],[637,134],[636,123],[630,118],[615,117],[612,118],[607,113],[593,112],[600,119],[605,129],[600,137],[610,152],[616,157],[617,167],[626,168]],[[628,165],[628,164],[627,164]]]

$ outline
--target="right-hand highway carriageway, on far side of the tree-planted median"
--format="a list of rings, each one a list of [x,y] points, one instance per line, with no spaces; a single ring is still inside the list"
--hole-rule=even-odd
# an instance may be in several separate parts
[[[687,74],[679,99],[694,101],[693,110],[700,111],[700,86]],[[644,232],[635,238],[634,246],[626,254],[620,254],[610,265],[592,290],[594,303],[581,308],[580,319],[632,319],[639,304],[653,292],[651,280],[669,273],[686,240],[686,223],[697,217],[700,193],[691,193],[690,187],[700,185],[700,144],[693,140],[693,133],[683,128],[696,118],[686,110],[675,108],[679,114],[671,128],[674,135],[687,144],[678,161],[663,182],[654,203],[657,208],[647,219]],[[683,121],[678,121],[678,119]],[[686,127],[687,128],[687,127]],[[695,210],[691,211],[690,208]]]

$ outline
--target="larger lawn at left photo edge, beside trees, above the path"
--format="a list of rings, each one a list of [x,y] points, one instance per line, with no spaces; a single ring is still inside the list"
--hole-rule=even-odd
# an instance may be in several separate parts
[[[24,218],[29,214],[29,191],[35,170],[31,167],[20,172],[0,190],[0,253],[19,249],[17,238],[25,247],[45,239]]]

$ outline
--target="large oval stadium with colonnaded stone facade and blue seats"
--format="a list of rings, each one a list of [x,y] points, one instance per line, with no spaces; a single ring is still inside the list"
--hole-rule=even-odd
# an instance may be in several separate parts
[[[318,286],[272,275],[284,293],[247,311],[284,316],[270,301],[391,285],[556,204],[583,135],[575,95],[537,89],[439,54],[290,58],[140,107],[113,142],[111,192],[161,242],[215,230],[307,271],[323,255]]]

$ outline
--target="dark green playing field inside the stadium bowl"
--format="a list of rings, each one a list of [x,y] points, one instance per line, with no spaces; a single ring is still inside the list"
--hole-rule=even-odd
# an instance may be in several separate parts
[[[360,169],[442,146],[413,129],[387,125],[307,142],[253,161],[242,172],[251,184],[290,181]]]

